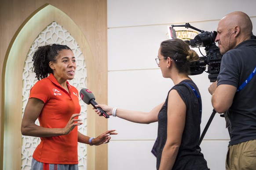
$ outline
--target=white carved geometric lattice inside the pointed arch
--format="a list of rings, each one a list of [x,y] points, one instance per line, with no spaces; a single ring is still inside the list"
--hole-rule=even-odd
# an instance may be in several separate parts
[[[52,22],[50,25],[47,26],[47,28],[44,29],[38,35],[37,39],[33,42],[32,46],[30,47],[30,50],[27,54],[27,58],[24,64],[23,68],[23,88],[22,88],[22,117],[25,110],[26,103],[29,98],[29,91],[32,88],[32,86],[37,82],[36,74],[32,72],[33,67],[33,61],[32,57],[34,52],[37,50],[39,46],[44,46],[47,44],[62,44],[67,45],[69,48],[73,51],[74,56],[77,60],[77,69],[76,69],[76,75],[73,80],[70,80],[70,85],[73,85],[77,88],[78,92],[80,92],[80,89],[87,87],[87,71],[86,71],[86,65],[84,61],[84,56],[81,53],[80,47],[78,46],[75,39],[70,35],[70,33],[64,29],[61,25],[57,24],[55,21]],[[81,106],[81,116],[80,119],[83,120],[82,125],[78,126],[78,131],[80,131],[82,134],[87,134],[87,105],[79,99],[79,103]],[[39,125],[38,120],[36,121],[36,124]],[[37,147],[37,145],[40,143],[40,138],[37,137],[31,137],[31,136],[22,136],[22,170],[30,170],[31,167],[31,161],[32,161],[32,155]],[[87,168],[87,147],[85,144],[78,143],[78,166],[79,170],[86,170]]]

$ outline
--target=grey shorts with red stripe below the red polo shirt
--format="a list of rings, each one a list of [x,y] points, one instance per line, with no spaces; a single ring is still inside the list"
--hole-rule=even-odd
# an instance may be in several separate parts
[[[40,163],[32,159],[31,170],[78,170],[78,164],[50,164]]]

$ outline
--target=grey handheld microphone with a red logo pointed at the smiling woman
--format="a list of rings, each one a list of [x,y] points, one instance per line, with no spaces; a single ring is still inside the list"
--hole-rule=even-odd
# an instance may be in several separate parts
[[[103,115],[105,118],[109,118],[109,115],[104,110],[102,110],[102,108],[95,106],[98,103],[95,102],[95,96],[90,90],[86,88],[81,89],[79,95],[84,103],[88,105],[91,104],[95,109],[98,109],[100,111],[101,115]]]

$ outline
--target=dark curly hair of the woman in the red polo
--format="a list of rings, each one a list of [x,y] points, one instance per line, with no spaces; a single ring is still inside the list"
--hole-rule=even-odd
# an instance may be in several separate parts
[[[56,62],[56,56],[58,56],[61,50],[71,50],[66,45],[52,44],[38,47],[37,51],[33,55],[33,68],[32,71],[36,73],[38,80],[48,77],[50,73],[53,73],[49,62]]]

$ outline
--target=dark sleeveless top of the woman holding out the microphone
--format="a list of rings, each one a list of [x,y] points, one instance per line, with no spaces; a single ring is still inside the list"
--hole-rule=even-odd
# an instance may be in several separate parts
[[[197,145],[200,138],[201,112],[200,102],[191,87],[184,82],[192,85],[200,96],[197,86],[191,80],[184,80],[172,87],[175,89],[186,104],[186,122],[182,135],[181,145],[172,170],[207,170],[207,163],[201,153],[201,148]],[[171,90],[172,90],[171,89]],[[162,151],[167,139],[167,105],[168,96],[158,113],[158,132],[157,132],[157,170],[161,162]]]

